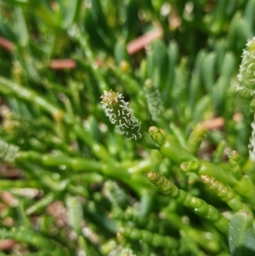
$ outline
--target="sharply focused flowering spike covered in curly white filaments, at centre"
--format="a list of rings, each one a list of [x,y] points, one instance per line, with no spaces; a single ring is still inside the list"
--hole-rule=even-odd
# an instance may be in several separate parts
[[[125,135],[127,139],[141,139],[141,122],[133,116],[133,111],[128,108],[128,102],[123,100],[122,94],[112,90],[105,91],[101,98],[105,115],[109,117],[112,124],[116,125],[118,132]]]

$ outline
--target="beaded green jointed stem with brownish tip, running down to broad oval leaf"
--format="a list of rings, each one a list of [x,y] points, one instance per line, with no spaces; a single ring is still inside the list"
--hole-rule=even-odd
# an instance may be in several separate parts
[[[198,197],[190,196],[190,194],[185,191],[179,190],[171,180],[161,174],[150,172],[147,174],[147,177],[150,182],[156,185],[156,187],[165,195],[172,196],[177,202],[191,208],[196,214],[211,220],[218,230],[227,234],[229,225],[228,220],[225,219],[216,208],[212,207],[212,205],[207,204],[207,202]]]

